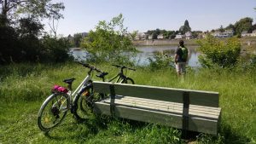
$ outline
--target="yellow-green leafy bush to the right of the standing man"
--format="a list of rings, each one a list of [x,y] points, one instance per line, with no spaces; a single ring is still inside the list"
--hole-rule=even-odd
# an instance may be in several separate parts
[[[206,39],[198,41],[199,50],[203,55],[199,61],[203,67],[231,67],[239,60],[241,43],[236,37],[230,37],[226,42],[208,35]]]

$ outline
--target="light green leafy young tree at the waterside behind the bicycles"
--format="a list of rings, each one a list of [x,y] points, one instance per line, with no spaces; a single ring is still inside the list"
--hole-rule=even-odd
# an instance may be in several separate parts
[[[81,47],[90,53],[90,60],[120,64],[130,61],[136,49],[131,39],[126,37],[127,28],[123,22],[122,14],[113,17],[110,22],[99,21],[96,31],[90,31],[88,37],[84,37]]]

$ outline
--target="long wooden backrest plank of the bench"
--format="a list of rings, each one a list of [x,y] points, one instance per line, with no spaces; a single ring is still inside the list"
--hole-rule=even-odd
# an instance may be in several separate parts
[[[184,101],[187,101],[192,105],[218,107],[218,92],[192,89],[173,89],[138,84],[112,84],[97,81],[93,82],[93,87],[98,93],[110,94],[114,92],[115,95],[133,96],[178,103],[184,103]]]

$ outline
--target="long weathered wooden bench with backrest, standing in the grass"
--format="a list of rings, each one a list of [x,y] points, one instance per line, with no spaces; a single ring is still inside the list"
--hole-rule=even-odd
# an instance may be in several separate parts
[[[137,84],[93,82],[96,93],[110,94],[96,101],[94,112],[177,129],[217,135],[221,108],[218,93]]]

